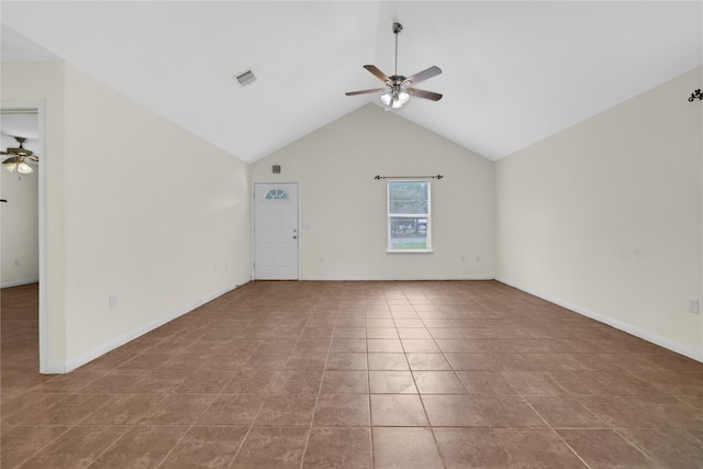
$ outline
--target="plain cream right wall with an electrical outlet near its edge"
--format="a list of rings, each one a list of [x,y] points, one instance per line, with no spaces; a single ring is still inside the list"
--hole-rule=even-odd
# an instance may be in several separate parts
[[[694,69],[496,164],[498,279],[703,360]]]

